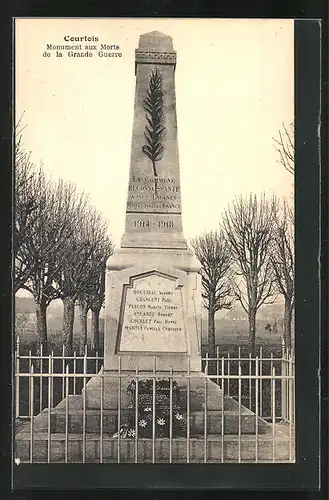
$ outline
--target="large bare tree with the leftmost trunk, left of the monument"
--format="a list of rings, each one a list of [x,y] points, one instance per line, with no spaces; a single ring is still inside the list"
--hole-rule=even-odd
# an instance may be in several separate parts
[[[47,307],[59,297],[54,287],[62,258],[67,254],[67,242],[75,230],[78,213],[76,188],[59,180],[51,182],[40,168],[33,180],[33,192],[38,199],[34,212],[33,230],[20,252],[32,273],[24,286],[36,303],[37,335],[47,350]],[[82,200],[83,201],[83,200]]]

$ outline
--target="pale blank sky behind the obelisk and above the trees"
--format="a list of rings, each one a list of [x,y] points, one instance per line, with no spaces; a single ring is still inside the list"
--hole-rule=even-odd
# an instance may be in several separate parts
[[[290,195],[273,146],[294,118],[292,20],[19,19],[16,116],[24,145],[54,179],[74,181],[124,230],[139,35],[162,31],[177,51],[176,99],[183,227],[216,228],[232,199]],[[64,36],[119,45],[121,58],[43,57]],[[88,42],[83,42],[84,44]],[[90,42],[93,44],[94,42]]]

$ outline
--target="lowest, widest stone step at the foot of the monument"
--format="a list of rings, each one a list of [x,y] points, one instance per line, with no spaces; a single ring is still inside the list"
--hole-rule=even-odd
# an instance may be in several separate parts
[[[135,462],[135,440],[120,439],[120,462]],[[186,439],[172,439],[172,462],[187,462]],[[255,436],[209,436],[205,445],[204,439],[200,436],[190,439],[189,461],[202,463],[207,462],[255,462],[256,448],[258,448],[258,461],[260,462],[289,462],[294,460],[294,443],[290,442],[287,436],[277,433],[274,441],[272,436],[259,436],[256,441]],[[33,462],[47,462],[48,436],[38,433],[33,440]],[[137,461],[140,463],[152,462],[152,439],[138,439],[137,441]],[[170,461],[170,440],[166,438],[156,438],[154,440],[154,453],[156,462]],[[20,433],[15,442],[15,458],[21,462],[30,460],[30,439],[28,433]],[[103,437],[103,462],[118,461],[118,439]],[[81,435],[68,435],[68,457],[69,462],[81,463],[83,457],[83,439]],[[65,434],[53,434],[51,437],[51,462],[65,462]],[[86,434],[85,439],[85,461],[90,463],[100,462],[100,438],[94,434]]]

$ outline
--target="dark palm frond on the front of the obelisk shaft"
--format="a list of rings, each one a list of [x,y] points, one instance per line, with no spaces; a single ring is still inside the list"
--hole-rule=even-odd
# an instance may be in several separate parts
[[[155,164],[162,159],[163,145],[160,141],[166,130],[162,125],[162,76],[158,68],[151,72],[147,96],[143,99],[143,107],[146,110],[147,125],[144,132],[146,144],[142,147],[142,151],[151,160],[153,175],[157,177]]]

